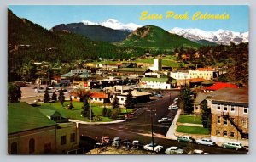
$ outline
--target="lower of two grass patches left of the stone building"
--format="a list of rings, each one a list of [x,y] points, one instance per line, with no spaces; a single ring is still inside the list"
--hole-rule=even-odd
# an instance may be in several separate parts
[[[177,132],[189,133],[189,134],[202,134],[208,135],[210,131],[207,128],[198,126],[177,126]]]

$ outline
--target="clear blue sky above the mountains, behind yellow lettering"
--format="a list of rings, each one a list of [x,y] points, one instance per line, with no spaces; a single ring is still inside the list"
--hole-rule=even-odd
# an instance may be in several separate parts
[[[102,22],[113,18],[120,22],[135,23],[137,25],[157,25],[166,31],[173,27],[198,28],[204,31],[217,31],[218,29],[245,32],[248,31],[248,6],[9,6],[17,16],[26,18],[46,29],[59,24],[68,24],[90,20]],[[188,12],[189,20],[140,20],[141,13],[163,14],[173,11],[175,14]],[[192,20],[195,12],[203,14],[230,14],[229,20]]]

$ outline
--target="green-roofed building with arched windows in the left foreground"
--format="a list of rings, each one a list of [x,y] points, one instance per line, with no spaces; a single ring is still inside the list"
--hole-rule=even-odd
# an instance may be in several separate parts
[[[75,123],[57,123],[27,103],[8,105],[9,154],[67,154],[79,147],[78,130]]]

